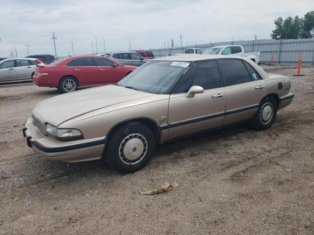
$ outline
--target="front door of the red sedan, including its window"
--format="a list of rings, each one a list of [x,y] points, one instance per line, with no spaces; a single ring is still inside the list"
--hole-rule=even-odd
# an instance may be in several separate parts
[[[113,84],[119,82],[123,78],[123,71],[120,66],[101,57],[94,57],[95,64],[99,72],[100,84]]]

